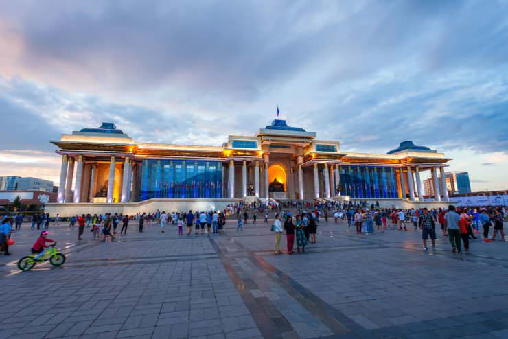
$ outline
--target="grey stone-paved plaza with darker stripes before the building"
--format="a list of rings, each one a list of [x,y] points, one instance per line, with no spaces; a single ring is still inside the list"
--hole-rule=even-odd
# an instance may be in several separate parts
[[[111,243],[50,231],[61,268],[16,268],[38,234],[27,224],[0,257],[0,338],[508,338],[503,242],[454,254],[438,231],[424,253],[419,231],[322,220],[307,253],[274,255],[259,221],[189,237],[131,222]]]

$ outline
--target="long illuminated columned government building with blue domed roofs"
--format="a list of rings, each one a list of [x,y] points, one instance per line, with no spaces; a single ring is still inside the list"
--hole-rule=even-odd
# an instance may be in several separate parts
[[[439,187],[438,172],[450,160],[411,141],[371,154],[316,137],[278,118],[252,137],[230,135],[218,146],[138,143],[111,123],[84,128],[51,141],[62,167],[58,204],[47,209],[132,213],[222,208],[238,199],[344,197],[406,206],[422,200],[420,173],[430,171]],[[446,190],[435,200],[448,200]]]

